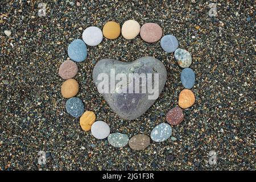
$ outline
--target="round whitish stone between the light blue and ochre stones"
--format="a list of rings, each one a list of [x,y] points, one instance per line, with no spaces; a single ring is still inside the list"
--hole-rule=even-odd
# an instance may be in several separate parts
[[[88,27],[82,32],[82,40],[88,46],[97,46],[103,38],[102,31],[98,27]]]

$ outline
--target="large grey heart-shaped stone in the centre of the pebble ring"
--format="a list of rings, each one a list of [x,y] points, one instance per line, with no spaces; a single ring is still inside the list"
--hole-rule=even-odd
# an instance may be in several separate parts
[[[164,64],[149,56],[128,63],[102,59],[93,69],[98,92],[119,117],[127,120],[138,118],[154,104],[166,78]]]

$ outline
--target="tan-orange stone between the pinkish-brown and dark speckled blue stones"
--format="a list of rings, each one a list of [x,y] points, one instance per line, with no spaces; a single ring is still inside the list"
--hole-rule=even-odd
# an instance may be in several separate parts
[[[74,97],[78,92],[79,84],[73,78],[64,81],[61,85],[61,94],[64,98]]]

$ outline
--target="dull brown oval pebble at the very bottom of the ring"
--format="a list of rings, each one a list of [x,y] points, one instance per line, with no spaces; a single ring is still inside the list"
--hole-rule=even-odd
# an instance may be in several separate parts
[[[150,145],[150,138],[144,134],[138,134],[131,137],[129,146],[133,150],[144,150]]]

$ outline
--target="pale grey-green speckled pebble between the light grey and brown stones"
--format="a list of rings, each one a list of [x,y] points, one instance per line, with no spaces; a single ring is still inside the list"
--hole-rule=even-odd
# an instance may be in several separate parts
[[[129,142],[129,137],[122,133],[112,133],[108,137],[109,143],[116,148],[125,147]]]

